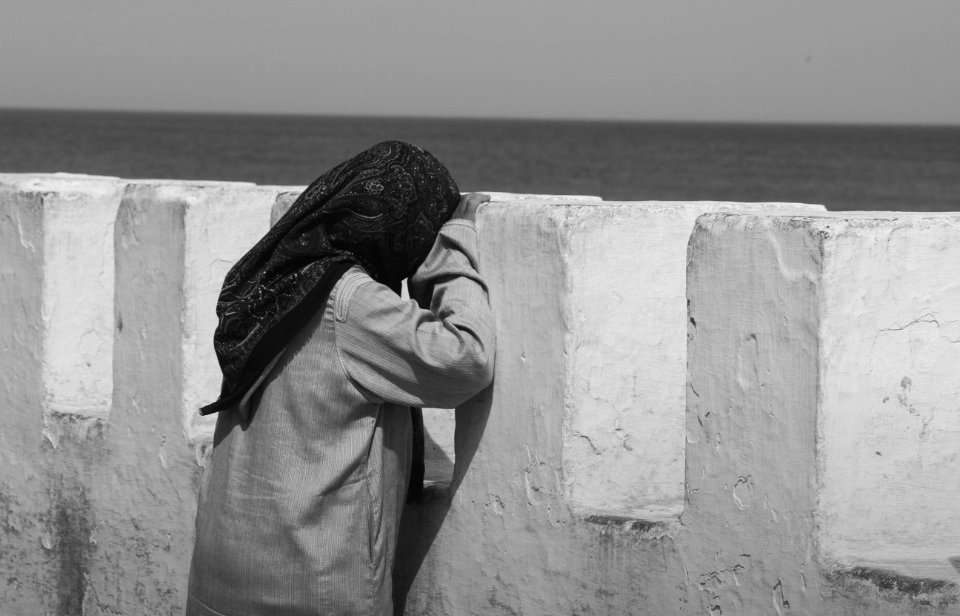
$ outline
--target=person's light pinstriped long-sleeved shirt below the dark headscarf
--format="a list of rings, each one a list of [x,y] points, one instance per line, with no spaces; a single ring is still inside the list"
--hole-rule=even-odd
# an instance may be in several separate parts
[[[188,614],[386,614],[411,463],[411,406],[492,378],[494,324],[463,199],[404,301],[354,266],[221,410],[204,472]]]

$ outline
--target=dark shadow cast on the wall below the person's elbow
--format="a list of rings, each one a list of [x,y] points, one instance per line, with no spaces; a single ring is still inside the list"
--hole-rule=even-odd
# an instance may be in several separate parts
[[[493,400],[493,385],[457,408],[456,433],[454,436],[455,460],[453,477],[449,487],[437,484],[424,489],[423,498],[408,503],[400,520],[400,537],[397,540],[396,563],[393,568],[393,610],[402,616],[407,603],[407,594],[423,568],[437,534],[450,511],[470,463],[480,445],[487,426]],[[427,443],[429,447],[430,443]],[[426,571],[436,571],[428,567]],[[435,587],[434,584],[428,585]]]

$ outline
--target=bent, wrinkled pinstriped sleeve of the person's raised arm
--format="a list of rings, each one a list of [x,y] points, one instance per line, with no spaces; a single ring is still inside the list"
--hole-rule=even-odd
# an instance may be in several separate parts
[[[473,224],[440,230],[403,300],[359,270],[334,298],[336,345],[348,378],[374,402],[452,408],[490,384],[495,333],[477,271]]]

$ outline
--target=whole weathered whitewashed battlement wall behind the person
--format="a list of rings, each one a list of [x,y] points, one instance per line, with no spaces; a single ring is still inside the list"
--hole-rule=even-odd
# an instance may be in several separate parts
[[[182,613],[216,296],[299,191],[0,174],[0,611]],[[398,605],[960,614],[960,214],[493,197]]]

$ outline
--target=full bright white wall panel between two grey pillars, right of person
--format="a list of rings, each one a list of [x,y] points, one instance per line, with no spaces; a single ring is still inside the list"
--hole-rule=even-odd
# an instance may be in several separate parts
[[[823,207],[607,201],[565,211],[558,257],[568,336],[567,502],[583,516],[675,518],[684,499],[686,266],[694,222],[711,211]]]

